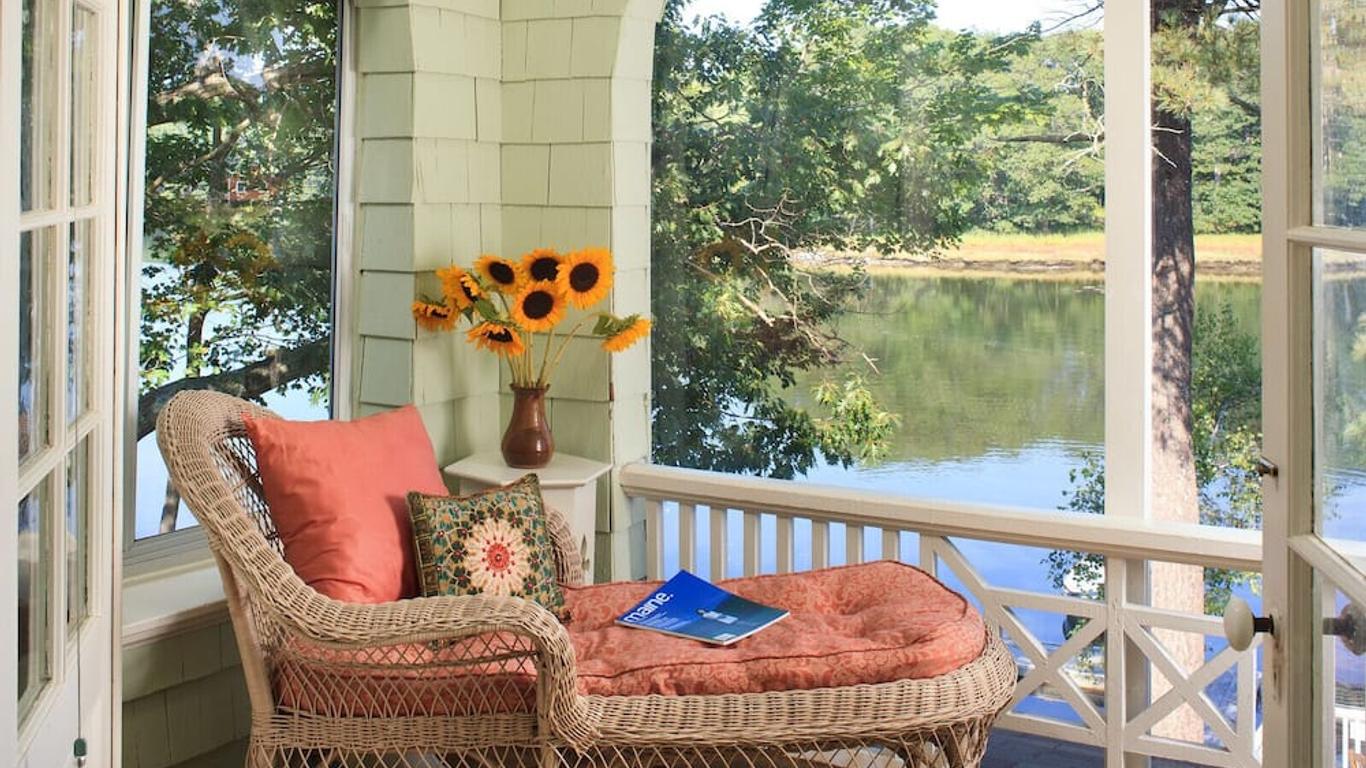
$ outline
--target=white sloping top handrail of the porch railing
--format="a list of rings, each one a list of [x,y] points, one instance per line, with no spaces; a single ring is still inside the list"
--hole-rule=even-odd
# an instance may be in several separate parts
[[[1165,560],[1257,571],[1261,536],[1191,523],[1154,523],[1127,515],[1044,512],[889,496],[884,492],[795,484],[695,469],[630,463],[622,492],[650,500],[686,500],[717,508],[772,512],[933,536],[963,536],[1026,547],[1059,547],[1130,560]]]

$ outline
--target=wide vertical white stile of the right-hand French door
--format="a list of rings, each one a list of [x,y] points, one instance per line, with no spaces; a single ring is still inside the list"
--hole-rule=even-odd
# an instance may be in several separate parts
[[[1262,605],[1276,620],[1265,648],[1262,763],[1303,765],[1314,749],[1313,574],[1290,551],[1313,510],[1310,260],[1292,241],[1311,223],[1310,25],[1300,0],[1264,0],[1262,23]]]

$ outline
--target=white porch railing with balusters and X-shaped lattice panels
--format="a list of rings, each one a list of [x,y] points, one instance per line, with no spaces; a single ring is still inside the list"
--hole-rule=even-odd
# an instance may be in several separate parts
[[[697,570],[702,553],[713,579],[762,570],[788,573],[799,562],[810,567],[878,558],[915,563],[967,592],[1015,650],[1020,679],[1000,727],[1105,749],[1112,767],[1123,765],[1126,756],[1229,768],[1259,764],[1259,641],[1238,653],[1223,644],[1218,618],[1154,608],[1145,599],[1147,562],[1261,571],[1257,532],[923,502],[645,463],[623,467],[620,484],[635,519],[643,521],[643,570],[650,578],[668,575],[665,562]],[[843,552],[832,547],[840,533]],[[918,547],[903,534],[915,534]],[[729,567],[728,556],[736,538],[739,568]],[[866,540],[880,544],[866,552]],[[964,556],[960,540],[1100,555],[1105,597],[990,584]],[[1067,637],[1040,641],[1022,618],[1040,611],[1071,622]],[[1162,641],[1176,633],[1199,635],[1206,648],[1213,640],[1220,649],[1206,653],[1199,667],[1184,670]],[[1105,642],[1113,637],[1126,642]],[[1206,689],[1229,676],[1232,694],[1221,708]],[[1157,679],[1167,685],[1150,689]],[[1067,704],[1075,716],[1020,707],[1026,701]],[[1203,722],[1203,739],[1156,735],[1154,726],[1183,705]]]

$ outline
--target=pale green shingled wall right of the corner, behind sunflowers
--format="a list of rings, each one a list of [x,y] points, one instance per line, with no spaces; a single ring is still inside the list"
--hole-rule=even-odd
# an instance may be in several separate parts
[[[612,249],[616,314],[650,307],[650,78],[663,0],[503,4],[501,253]],[[549,392],[556,450],[613,467],[646,458],[649,344],[608,355],[598,339],[571,343]],[[645,570],[643,521],[631,518],[616,476],[598,481],[598,581]]]

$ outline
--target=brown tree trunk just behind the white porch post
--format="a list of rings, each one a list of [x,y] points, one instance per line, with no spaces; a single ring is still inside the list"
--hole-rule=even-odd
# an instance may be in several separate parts
[[[1199,25],[1190,0],[1153,0],[1153,33]],[[1153,517],[1199,522],[1191,422],[1191,336],[1195,327],[1195,225],[1191,206],[1191,123],[1153,105]],[[1205,612],[1199,566],[1152,563],[1152,604]],[[1154,630],[1187,675],[1205,661],[1205,638]],[[1171,685],[1153,675],[1157,698]],[[1187,705],[1153,728],[1154,735],[1205,741],[1203,720]]]

